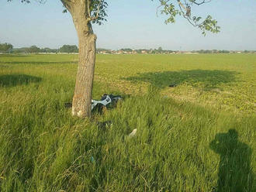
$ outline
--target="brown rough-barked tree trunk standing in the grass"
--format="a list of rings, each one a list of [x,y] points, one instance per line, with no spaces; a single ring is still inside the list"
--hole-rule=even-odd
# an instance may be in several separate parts
[[[88,6],[85,5],[85,1],[65,1],[64,3],[66,3],[64,5],[68,11],[71,12],[79,42],[78,73],[74,87],[72,115],[90,117],[97,37],[92,30]],[[90,3],[89,0],[88,3]]]

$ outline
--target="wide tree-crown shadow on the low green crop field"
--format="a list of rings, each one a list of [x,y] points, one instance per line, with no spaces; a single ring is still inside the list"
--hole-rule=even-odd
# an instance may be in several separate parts
[[[188,83],[192,85],[202,84],[206,90],[217,87],[218,84],[226,84],[235,81],[237,72],[228,70],[181,70],[164,71],[138,74],[136,77],[126,77],[128,81],[149,82],[155,87],[168,87],[170,85]]]

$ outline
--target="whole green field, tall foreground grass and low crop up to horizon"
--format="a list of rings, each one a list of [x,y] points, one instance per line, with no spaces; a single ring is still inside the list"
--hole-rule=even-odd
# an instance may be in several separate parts
[[[0,191],[256,191],[255,54],[97,55],[91,119],[77,62],[0,55]]]

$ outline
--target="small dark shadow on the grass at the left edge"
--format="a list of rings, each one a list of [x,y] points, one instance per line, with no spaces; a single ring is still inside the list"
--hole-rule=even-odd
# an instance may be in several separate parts
[[[17,85],[36,83],[40,81],[42,81],[42,78],[26,74],[0,75],[0,87],[15,87]]]

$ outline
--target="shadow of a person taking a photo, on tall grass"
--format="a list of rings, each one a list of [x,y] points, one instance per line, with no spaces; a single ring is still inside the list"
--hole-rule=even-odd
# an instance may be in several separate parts
[[[235,129],[216,134],[209,148],[220,154],[218,186],[214,191],[253,191],[251,148],[238,140]]]

